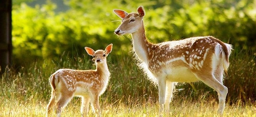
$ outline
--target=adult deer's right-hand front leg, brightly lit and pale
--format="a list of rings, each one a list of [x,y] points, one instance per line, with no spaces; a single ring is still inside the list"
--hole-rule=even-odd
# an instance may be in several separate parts
[[[169,82],[166,80],[166,93],[165,93],[165,113],[166,113],[166,117],[169,116],[169,106],[170,106],[170,102],[171,102],[171,98],[172,98],[172,92],[174,90],[174,82]]]

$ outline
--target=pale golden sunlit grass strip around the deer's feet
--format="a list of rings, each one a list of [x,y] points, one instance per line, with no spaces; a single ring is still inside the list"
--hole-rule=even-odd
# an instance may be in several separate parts
[[[62,117],[79,117],[80,102],[72,100],[63,109]],[[16,101],[1,102],[1,117],[44,117],[46,114],[46,102],[37,101],[22,104]],[[203,100],[192,102],[189,100],[171,102],[170,115],[172,117],[221,117],[217,115],[217,102],[215,100]],[[150,102],[137,105],[126,105],[120,102],[118,105],[101,102],[102,117],[158,117],[157,104]],[[255,105],[227,105],[223,117],[255,117]],[[89,117],[95,116],[90,109]],[[51,116],[56,116],[52,113]]]

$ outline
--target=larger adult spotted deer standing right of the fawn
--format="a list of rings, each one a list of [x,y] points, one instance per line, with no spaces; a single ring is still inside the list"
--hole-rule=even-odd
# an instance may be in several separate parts
[[[229,66],[231,45],[211,36],[152,44],[145,36],[143,6],[138,7],[138,13],[118,9],[113,11],[122,19],[114,32],[117,35],[132,34],[133,50],[139,60],[139,67],[158,84],[160,115],[164,105],[166,116],[169,115],[174,82],[197,80],[218,92],[218,113],[223,113],[228,93],[228,88],[223,85],[223,72]]]

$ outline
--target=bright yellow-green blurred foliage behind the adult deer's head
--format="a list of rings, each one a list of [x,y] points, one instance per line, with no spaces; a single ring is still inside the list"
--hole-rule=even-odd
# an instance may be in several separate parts
[[[135,12],[139,5],[148,38],[154,43],[213,35],[238,49],[255,50],[255,1],[95,1],[65,0],[70,9],[55,13],[57,5],[27,6],[12,11],[13,55],[17,65],[54,59],[66,52],[82,55],[84,46],[100,49],[113,43],[114,54],[131,50],[130,37],[113,34],[121,19],[112,10]],[[107,7],[106,7],[107,6]]]

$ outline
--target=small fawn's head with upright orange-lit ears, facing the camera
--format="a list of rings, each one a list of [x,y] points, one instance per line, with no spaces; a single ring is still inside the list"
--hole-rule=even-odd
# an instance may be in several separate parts
[[[107,58],[108,54],[112,51],[112,46],[113,46],[113,44],[109,44],[105,50],[96,50],[96,51],[94,51],[93,49],[91,49],[89,47],[85,47],[85,50],[86,50],[87,54],[94,57],[94,61],[96,64],[100,64],[100,63],[107,62],[106,58]]]

